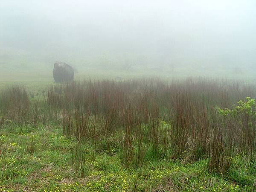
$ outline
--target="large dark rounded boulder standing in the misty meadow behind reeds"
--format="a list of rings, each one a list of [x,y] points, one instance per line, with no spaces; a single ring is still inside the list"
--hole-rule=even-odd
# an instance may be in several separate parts
[[[73,68],[64,62],[56,62],[52,73],[56,83],[69,82],[74,79]]]

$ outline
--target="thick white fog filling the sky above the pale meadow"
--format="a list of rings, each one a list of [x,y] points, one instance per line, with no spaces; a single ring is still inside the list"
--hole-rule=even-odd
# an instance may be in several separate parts
[[[55,61],[256,74],[256,1],[0,0],[0,66]]]

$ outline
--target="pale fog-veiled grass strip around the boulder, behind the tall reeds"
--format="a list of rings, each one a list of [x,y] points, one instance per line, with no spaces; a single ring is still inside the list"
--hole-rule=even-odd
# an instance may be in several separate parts
[[[14,55],[12,55],[14,57]],[[4,58],[4,57],[3,57]],[[32,83],[50,83],[53,81],[52,70],[55,61],[50,60],[29,60],[29,58],[12,58],[1,59],[0,65],[2,69],[0,71],[0,81],[5,84],[13,82],[22,82],[30,86]],[[98,60],[97,58],[96,60]],[[211,77],[211,78],[224,78],[224,79],[240,79],[246,81],[256,81],[255,70],[248,70],[241,68],[241,71],[235,72],[232,67],[220,68],[220,67],[203,67],[204,65],[176,65],[174,69],[166,66],[160,68],[159,64],[141,65],[135,66],[129,70],[125,70],[122,67],[122,62],[107,62],[99,64],[99,61],[88,59],[69,59],[66,61],[69,64],[73,64],[78,73],[75,73],[75,79],[131,79],[141,77],[160,77],[166,79],[172,78],[186,78],[186,77]],[[102,61],[101,61],[102,62]],[[101,63],[100,62],[100,63]],[[38,84],[39,85],[39,84]],[[1,86],[1,85],[0,85]]]

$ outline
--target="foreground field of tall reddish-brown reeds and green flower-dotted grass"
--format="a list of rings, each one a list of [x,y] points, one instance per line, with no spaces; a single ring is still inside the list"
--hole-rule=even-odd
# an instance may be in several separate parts
[[[1,85],[0,191],[256,191],[254,84],[13,84]]]

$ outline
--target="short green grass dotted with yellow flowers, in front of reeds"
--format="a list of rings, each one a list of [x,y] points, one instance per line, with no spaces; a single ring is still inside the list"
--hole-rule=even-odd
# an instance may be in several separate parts
[[[75,170],[72,151],[82,147],[84,172]],[[227,175],[210,174],[207,160],[147,160],[139,168],[123,166],[118,152],[65,137],[60,127],[0,129],[0,191],[253,191],[256,161],[237,156]],[[140,174],[139,174],[140,173]],[[254,183],[255,184],[255,183]]]

